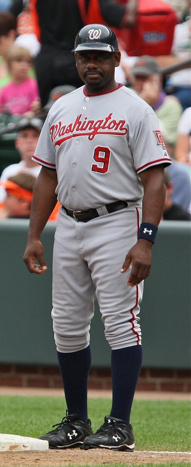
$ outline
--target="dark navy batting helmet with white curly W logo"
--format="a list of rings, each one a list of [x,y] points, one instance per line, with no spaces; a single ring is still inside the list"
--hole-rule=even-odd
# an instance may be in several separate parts
[[[118,39],[113,29],[103,24],[88,24],[80,29],[72,52],[92,49],[118,52]]]

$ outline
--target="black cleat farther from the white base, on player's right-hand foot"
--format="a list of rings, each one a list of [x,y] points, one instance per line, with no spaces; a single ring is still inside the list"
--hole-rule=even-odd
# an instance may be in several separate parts
[[[128,428],[120,418],[105,417],[104,424],[92,436],[84,440],[84,449],[101,448],[113,451],[134,450],[133,428]]]

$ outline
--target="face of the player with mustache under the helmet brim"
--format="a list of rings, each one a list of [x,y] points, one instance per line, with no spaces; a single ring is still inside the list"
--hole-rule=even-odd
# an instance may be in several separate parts
[[[120,64],[120,52],[82,50],[75,52],[75,58],[80,78],[92,88],[112,83],[115,67]]]

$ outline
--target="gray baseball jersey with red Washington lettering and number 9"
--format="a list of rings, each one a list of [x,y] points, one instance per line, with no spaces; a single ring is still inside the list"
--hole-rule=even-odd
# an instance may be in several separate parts
[[[140,172],[170,164],[156,114],[123,85],[91,96],[81,87],[58,99],[34,160],[57,170],[58,201],[73,210],[141,200]]]

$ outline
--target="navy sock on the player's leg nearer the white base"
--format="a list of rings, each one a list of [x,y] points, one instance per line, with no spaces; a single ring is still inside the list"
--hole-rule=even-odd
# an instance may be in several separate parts
[[[57,351],[64,395],[69,414],[78,414],[87,423],[87,385],[91,366],[90,346],[78,352]]]

